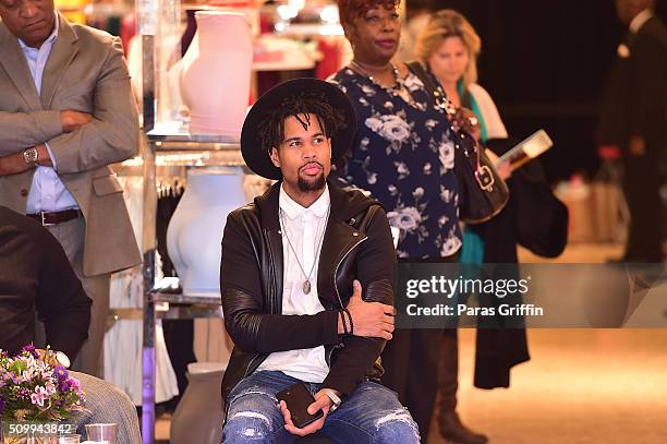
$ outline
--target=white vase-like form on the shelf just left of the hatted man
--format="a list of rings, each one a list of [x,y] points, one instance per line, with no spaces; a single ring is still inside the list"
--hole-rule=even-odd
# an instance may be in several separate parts
[[[167,250],[183,295],[220,297],[222,231],[227,215],[245,204],[241,167],[191,169],[167,229]]]

